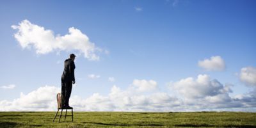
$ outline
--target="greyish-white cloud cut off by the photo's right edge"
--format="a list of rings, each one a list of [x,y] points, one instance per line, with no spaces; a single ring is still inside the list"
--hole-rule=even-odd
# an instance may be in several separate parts
[[[256,68],[254,67],[241,68],[239,78],[245,84],[256,87]]]

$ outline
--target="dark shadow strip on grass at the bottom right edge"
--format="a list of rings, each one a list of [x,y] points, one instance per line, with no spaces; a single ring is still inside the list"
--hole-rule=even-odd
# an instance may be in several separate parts
[[[208,125],[208,124],[179,124],[176,127],[244,127],[244,128],[256,128],[254,125]]]

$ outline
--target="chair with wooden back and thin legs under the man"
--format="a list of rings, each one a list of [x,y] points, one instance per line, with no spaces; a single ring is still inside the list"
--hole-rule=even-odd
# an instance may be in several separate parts
[[[59,123],[60,123],[60,118],[61,118],[61,114],[62,114],[63,109],[66,109],[65,120],[66,120],[66,116],[72,116],[72,122],[73,122],[73,108],[70,108],[71,112],[72,112],[72,115],[67,115],[68,108],[63,108],[62,107],[63,106],[63,96],[62,96],[61,93],[57,94],[57,102],[58,102],[58,111],[55,114],[52,122],[54,122],[54,120],[55,120],[56,116],[58,115],[58,112],[59,112],[60,109],[61,109],[61,113],[60,113],[60,117],[59,117]]]

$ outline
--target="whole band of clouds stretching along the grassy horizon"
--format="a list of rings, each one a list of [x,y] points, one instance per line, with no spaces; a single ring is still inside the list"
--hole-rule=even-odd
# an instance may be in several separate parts
[[[137,84],[136,86],[134,84]],[[125,89],[116,85],[106,95],[93,93],[81,98],[72,94],[70,106],[74,111],[255,111],[256,90],[230,97],[231,84],[223,86],[218,80],[207,75],[181,79],[170,84],[175,93],[140,92],[139,88],[154,85],[156,81],[134,79]],[[196,90],[197,89],[197,90]],[[143,91],[148,91],[144,90]],[[20,93],[18,99],[0,100],[0,111],[56,111],[56,94],[61,92],[55,86],[43,86],[28,94]]]

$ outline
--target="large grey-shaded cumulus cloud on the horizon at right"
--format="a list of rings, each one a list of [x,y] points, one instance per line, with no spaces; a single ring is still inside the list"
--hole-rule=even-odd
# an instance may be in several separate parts
[[[184,102],[184,108],[188,111],[245,111],[244,102],[231,97],[232,84],[220,83],[217,79],[211,79],[208,75],[198,75],[196,79],[188,77],[169,84],[171,90],[180,96]],[[250,102],[250,101],[248,101]],[[255,108],[256,106],[250,106]],[[244,109],[244,110],[242,110]]]

